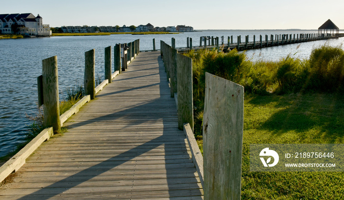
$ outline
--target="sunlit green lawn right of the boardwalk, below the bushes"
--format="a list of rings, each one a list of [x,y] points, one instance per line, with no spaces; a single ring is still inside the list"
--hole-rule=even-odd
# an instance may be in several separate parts
[[[250,144],[342,144],[343,116],[343,95],[246,95],[241,199],[344,199],[344,173],[250,172],[249,158]]]

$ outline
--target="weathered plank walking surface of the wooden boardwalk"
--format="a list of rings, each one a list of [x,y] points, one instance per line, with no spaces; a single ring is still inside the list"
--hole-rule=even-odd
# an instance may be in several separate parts
[[[199,200],[160,51],[141,52],[0,188],[1,200]]]

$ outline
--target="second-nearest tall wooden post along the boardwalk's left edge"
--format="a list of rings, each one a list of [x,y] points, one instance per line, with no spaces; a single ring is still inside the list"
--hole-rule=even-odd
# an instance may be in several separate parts
[[[91,100],[94,100],[94,49],[85,52],[85,75],[84,75],[84,88],[85,94],[90,95]]]

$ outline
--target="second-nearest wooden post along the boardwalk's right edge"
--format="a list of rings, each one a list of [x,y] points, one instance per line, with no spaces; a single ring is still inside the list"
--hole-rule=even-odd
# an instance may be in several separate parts
[[[189,123],[194,131],[194,106],[192,94],[192,59],[177,54],[178,128]]]

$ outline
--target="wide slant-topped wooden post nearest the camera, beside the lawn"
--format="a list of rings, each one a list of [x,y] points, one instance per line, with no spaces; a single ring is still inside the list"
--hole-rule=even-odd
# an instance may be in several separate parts
[[[240,200],[243,124],[244,87],[206,73],[203,114],[205,200]]]

